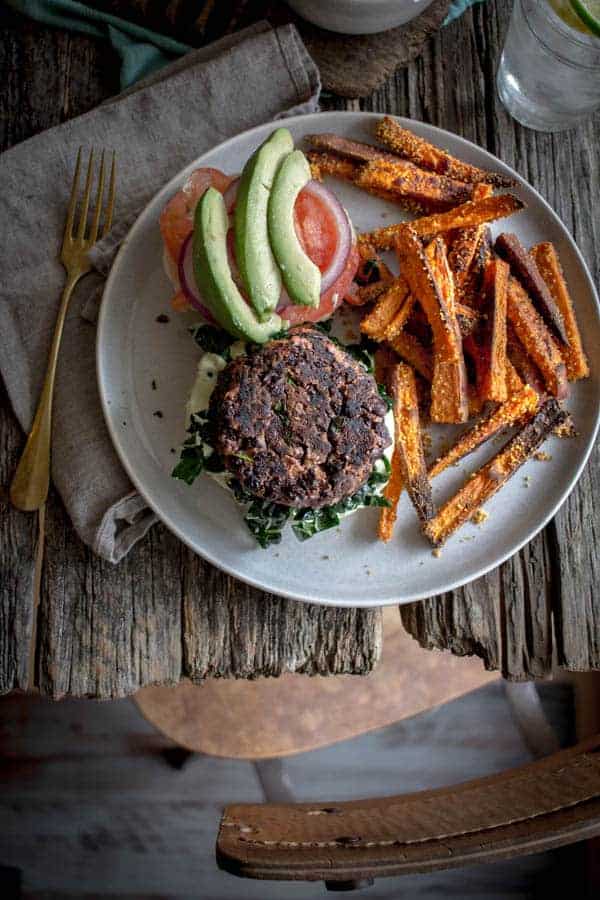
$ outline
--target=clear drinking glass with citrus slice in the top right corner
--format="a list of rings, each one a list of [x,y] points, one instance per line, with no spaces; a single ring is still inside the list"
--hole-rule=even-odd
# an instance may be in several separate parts
[[[600,108],[600,38],[574,16],[568,0],[514,0],[497,87],[528,128],[564,131]]]

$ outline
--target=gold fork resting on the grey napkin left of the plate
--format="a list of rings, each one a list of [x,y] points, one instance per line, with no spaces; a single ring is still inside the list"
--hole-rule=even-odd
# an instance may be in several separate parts
[[[81,213],[79,222],[75,228],[75,211],[77,208],[77,198],[79,195],[79,173],[81,170],[81,147],[77,153],[77,162],[75,164],[75,175],[73,176],[73,185],[71,187],[71,197],[69,199],[69,208],[67,210],[67,221],[65,223],[65,233],[63,237],[62,248],[60,251],[60,261],[67,271],[67,281],[64,286],[58,311],[58,318],[54,329],[54,337],[52,338],[52,347],[50,348],[50,357],[48,359],[48,367],[46,369],[46,377],[44,379],[44,387],[40,397],[38,408],[35,413],[35,419],[27,438],[27,443],[23,451],[23,455],[19,461],[17,471],[10,486],[10,499],[14,506],[18,509],[34,510],[40,509],[46,502],[48,496],[48,487],[50,484],[50,437],[52,431],[52,398],[54,395],[54,380],[56,376],[56,363],[60,350],[60,342],[63,333],[63,326],[67,316],[69,300],[73,293],[73,288],[84,275],[91,270],[92,265],[88,258],[88,252],[96,243],[100,230],[100,217],[102,215],[102,203],[104,199],[104,181],[105,181],[105,153],[102,151],[100,161],[100,172],[98,175],[98,187],[96,189],[96,201],[94,212],[92,214],[92,222],[86,237],[86,228],[88,220],[88,210],[90,206],[90,197],[92,194],[92,184],[94,181],[94,151],[90,151],[87,175],[85,180],[85,189],[81,201]],[[115,154],[112,154],[112,165],[110,169],[110,183],[108,188],[108,197],[104,210],[104,222],[101,237],[104,237],[112,224],[113,209],[115,205],[115,182],[116,182],[116,160]]]

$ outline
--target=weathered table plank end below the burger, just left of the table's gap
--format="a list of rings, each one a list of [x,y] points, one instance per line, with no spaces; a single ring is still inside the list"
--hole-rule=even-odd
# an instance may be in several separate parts
[[[185,664],[192,681],[305,672],[365,674],[382,647],[381,611],[296,603],[249,587],[186,551]],[[202,585],[202,591],[198,590]]]

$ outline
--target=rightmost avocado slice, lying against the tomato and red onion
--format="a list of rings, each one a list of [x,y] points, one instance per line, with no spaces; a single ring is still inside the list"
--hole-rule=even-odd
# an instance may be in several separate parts
[[[304,252],[294,224],[296,198],[310,179],[310,166],[304,153],[301,150],[289,153],[279,166],[271,188],[267,221],[273,256],[290,299],[316,308],[321,302],[321,272]]]

